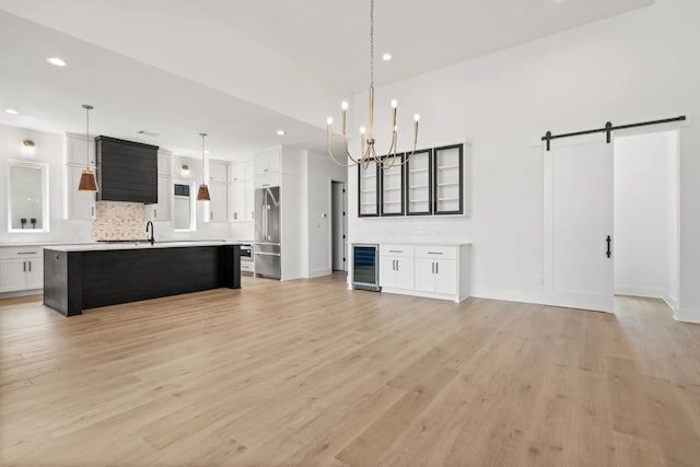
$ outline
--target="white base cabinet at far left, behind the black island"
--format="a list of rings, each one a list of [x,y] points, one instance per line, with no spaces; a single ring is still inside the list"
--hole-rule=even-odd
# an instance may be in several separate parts
[[[42,289],[43,265],[40,246],[0,247],[0,293]]]

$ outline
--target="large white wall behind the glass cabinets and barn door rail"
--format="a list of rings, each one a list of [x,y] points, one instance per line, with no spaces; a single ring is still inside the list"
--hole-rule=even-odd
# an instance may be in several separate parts
[[[349,170],[351,241],[431,236],[474,243],[472,294],[541,302],[542,156],[547,131],[598,128],[700,113],[700,2],[653,5],[376,90],[377,145],[389,135],[388,101],[399,101],[405,143],[421,114],[420,147],[468,138],[470,219],[357,218],[357,168]],[[467,23],[468,24],[468,21]],[[366,94],[353,108],[366,108]],[[386,113],[384,113],[386,110]],[[366,112],[366,110],[364,110]],[[353,113],[354,127],[366,115]],[[386,117],[386,118],[385,118]],[[700,322],[700,128],[680,131],[680,310]]]

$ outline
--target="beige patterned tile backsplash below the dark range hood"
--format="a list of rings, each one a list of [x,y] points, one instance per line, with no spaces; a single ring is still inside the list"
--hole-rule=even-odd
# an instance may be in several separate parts
[[[145,238],[145,206],[139,202],[97,201],[92,237],[104,240]]]

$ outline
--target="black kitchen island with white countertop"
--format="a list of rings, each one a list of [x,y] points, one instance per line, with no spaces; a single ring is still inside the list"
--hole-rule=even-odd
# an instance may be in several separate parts
[[[44,304],[83,310],[210,289],[241,288],[237,242],[89,244],[44,248]]]

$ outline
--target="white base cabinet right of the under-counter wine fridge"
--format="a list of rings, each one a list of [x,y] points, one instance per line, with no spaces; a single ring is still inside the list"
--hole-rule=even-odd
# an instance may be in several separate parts
[[[382,292],[460,302],[469,296],[471,245],[380,245]]]

